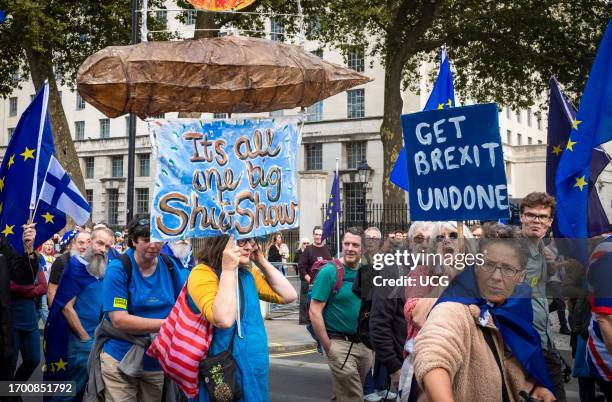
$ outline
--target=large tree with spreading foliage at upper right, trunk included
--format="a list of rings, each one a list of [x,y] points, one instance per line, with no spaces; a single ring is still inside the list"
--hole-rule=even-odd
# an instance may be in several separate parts
[[[605,0],[303,0],[303,7],[324,43],[367,46],[385,68],[385,203],[405,200],[388,177],[402,147],[401,91],[422,61],[446,45],[461,99],[525,107],[545,93],[551,73],[577,97],[612,15]]]

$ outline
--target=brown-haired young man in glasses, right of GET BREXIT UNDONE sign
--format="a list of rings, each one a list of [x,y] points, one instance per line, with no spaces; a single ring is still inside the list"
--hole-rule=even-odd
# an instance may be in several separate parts
[[[556,350],[548,322],[548,300],[546,282],[548,281],[548,263],[542,238],[552,225],[556,203],[546,193],[530,193],[520,205],[522,232],[531,241],[528,242],[529,255],[525,281],[531,286],[531,305],[533,306],[533,326],[540,334],[544,359],[555,387],[555,396],[559,402],[566,401],[563,382],[563,362]]]

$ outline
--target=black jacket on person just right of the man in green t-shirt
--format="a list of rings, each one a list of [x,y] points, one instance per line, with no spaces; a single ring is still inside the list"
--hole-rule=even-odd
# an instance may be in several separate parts
[[[394,268],[386,267],[379,273],[385,278],[400,276],[398,272],[389,271],[394,271]],[[404,362],[404,343],[408,336],[404,304],[403,287],[374,287],[370,311],[370,341],[376,359],[384,364],[389,374],[402,368]]]

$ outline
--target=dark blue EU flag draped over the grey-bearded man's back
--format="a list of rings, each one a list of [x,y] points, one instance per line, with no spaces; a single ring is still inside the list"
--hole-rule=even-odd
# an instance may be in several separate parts
[[[68,381],[68,364],[70,364],[68,361],[68,340],[71,331],[62,309],[83,289],[97,280],[87,272],[85,264],[85,260],[79,256],[70,257],[62,273],[62,281],[57,288],[45,324],[43,342],[43,352],[45,354],[44,381]]]

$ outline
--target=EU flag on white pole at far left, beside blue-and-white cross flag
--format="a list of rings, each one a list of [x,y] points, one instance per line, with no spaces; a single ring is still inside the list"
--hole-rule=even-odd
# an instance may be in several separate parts
[[[19,253],[23,253],[22,225],[30,211],[36,209],[35,248],[66,225],[65,215],[50,205],[41,202],[36,208],[49,160],[55,155],[48,99],[45,84],[21,115],[0,165],[0,233]]]

